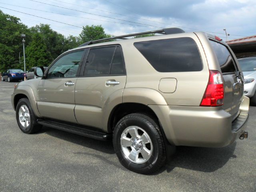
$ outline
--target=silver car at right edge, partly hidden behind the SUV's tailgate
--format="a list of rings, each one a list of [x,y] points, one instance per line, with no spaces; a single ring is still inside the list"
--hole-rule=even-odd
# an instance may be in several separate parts
[[[240,58],[238,62],[244,74],[244,95],[251,98],[251,104],[256,106],[256,56]]]

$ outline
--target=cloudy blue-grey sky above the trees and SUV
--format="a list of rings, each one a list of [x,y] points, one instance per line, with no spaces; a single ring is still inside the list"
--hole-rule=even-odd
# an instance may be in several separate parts
[[[65,36],[78,36],[82,26],[92,24],[101,24],[112,35],[177,26],[212,32],[223,39],[226,28],[228,40],[256,35],[256,0],[0,0],[0,7],[28,27],[50,24]]]

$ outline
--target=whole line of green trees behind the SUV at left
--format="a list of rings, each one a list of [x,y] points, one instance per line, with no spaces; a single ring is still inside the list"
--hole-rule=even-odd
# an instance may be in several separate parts
[[[9,68],[24,69],[22,33],[26,34],[26,70],[34,66],[49,66],[60,54],[84,42],[110,37],[101,25],[86,25],[79,36],[68,37],[52,30],[48,24],[28,28],[19,18],[0,10],[0,72]],[[19,52],[22,63],[19,62]]]

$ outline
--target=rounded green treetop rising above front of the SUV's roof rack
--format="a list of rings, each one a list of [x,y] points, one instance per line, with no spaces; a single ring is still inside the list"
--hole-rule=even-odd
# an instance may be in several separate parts
[[[111,35],[106,34],[101,25],[83,26],[82,32],[79,34],[82,43],[109,38]]]

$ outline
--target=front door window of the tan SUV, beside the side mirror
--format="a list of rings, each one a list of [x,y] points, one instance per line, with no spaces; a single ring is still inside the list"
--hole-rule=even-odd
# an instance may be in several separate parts
[[[49,69],[47,78],[70,78],[76,77],[78,66],[84,50],[72,52],[62,56]]]

